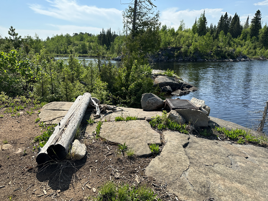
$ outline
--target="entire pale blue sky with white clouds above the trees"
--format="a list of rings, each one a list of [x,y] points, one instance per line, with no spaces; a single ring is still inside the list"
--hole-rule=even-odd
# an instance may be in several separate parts
[[[130,0],[121,0],[129,3]],[[184,20],[187,27],[194,24],[205,9],[205,16],[210,23],[217,24],[220,16],[227,12],[229,15],[237,13],[240,21],[250,20],[259,9],[262,14],[263,25],[268,23],[268,0],[265,1],[153,1],[160,11],[161,24],[174,27]],[[19,35],[35,33],[46,39],[56,34],[73,34],[74,32],[88,32],[98,34],[105,30],[122,29],[122,11],[126,4],[120,0],[1,0],[0,34],[7,36],[8,28],[12,25]]]

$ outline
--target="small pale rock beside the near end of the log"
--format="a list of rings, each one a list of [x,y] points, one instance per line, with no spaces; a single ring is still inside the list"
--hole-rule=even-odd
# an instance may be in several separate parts
[[[87,153],[87,147],[85,144],[81,144],[79,140],[74,140],[72,147],[67,155],[67,159],[80,160],[85,157]]]

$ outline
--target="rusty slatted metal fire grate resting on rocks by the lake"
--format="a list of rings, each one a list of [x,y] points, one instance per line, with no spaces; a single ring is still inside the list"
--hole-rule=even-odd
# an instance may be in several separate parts
[[[178,109],[194,109],[199,110],[191,101],[183,100],[183,99],[166,99],[166,104],[169,106],[171,110],[178,110]]]

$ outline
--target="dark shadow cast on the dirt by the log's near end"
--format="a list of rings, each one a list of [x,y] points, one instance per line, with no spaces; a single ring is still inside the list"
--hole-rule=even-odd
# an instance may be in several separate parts
[[[38,168],[36,178],[40,182],[48,180],[48,185],[53,190],[66,191],[70,184],[77,182],[76,172],[85,165],[87,158],[71,161],[52,161]]]

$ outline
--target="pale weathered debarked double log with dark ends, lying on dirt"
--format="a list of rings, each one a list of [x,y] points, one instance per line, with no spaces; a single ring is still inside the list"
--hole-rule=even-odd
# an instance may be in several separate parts
[[[40,149],[36,157],[38,164],[49,160],[63,160],[66,157],[90,102],[90,93],[77,97],[67,114],[55,127],[45,146]]]

